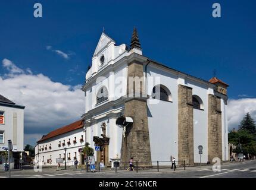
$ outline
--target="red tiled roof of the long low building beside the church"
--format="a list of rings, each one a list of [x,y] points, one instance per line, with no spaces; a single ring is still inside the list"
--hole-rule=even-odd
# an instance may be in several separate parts
[[[73,124],[69,124],[61,128],[58,128],[54,131],[51,131],[47,135],[43,135],[43,137],[38,141],[38,143],[48,138],[56,137],[58,135],[65,134],[66,132],[74,131],[79,128],[83,128],[83,119],[80,119],[79,121],[76,121]]]

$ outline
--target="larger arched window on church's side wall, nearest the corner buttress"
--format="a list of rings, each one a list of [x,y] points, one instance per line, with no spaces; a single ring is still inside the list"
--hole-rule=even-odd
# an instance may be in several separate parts
[[[171,93],[164,85],[155,85],[152,90],[152,98],[164,101],[171,101]]]

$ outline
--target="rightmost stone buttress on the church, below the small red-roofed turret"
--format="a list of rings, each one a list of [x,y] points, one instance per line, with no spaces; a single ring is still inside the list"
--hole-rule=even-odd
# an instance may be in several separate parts
[[[208,94],[208,162],[214,157],[222,160],[220,98]]]

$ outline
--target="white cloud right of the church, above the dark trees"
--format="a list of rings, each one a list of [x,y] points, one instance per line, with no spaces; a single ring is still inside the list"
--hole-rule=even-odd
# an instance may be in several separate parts
[[[256,99],[230,99],[227,108],[229,130],[237,129],[247,112],[256,121]]]

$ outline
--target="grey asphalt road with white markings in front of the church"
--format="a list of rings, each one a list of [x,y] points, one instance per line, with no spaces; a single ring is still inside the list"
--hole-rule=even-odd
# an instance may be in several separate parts
[[[11,171],[11,178],[256,178],[256,160],[243,163],[223,163],[220,172],[213,172],[212,166],[139,170],[136,172],[105,170],[102,172],[86,172],[85,170],[33,169]],[[0,172],[0,178],[8,178],[8,172]]]

